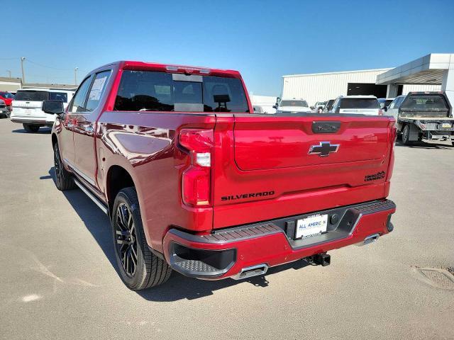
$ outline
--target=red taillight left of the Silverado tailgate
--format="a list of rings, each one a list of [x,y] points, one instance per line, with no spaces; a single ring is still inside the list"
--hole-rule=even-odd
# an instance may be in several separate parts
[[[210,205],[213,140],[213,130],[184,129],[179,132],[179,145],[187,149],[191,159],[182,175],[182,200],[186,205]]]

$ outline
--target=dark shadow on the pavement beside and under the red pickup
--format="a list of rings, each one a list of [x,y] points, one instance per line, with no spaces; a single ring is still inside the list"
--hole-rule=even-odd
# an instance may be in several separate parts
[[[55,182],[55,169],[52,166],[49,174],[40,176],[40,179],[52,179]],[[109,259],[111,265],[117,271],[114,246],[111,239],[111,224],[109,217],[104,214],[82,191],[79,189],[63,191],[65,198],[70,202],[72,208],[77,212],[85,227],[92,234],[96,242],[98,242],[102,251]],[[266,276],[279,273],[280,271],[293,268],[294,270],[309,266],[309,263],[304,260],[287,263],[282,266],[270,268]],[[117,271],[118,273],[118,271]],[[179,273],[173,272],[170,280],[167,283],[150,288],[148,290],[140,290],[138,293],[145,300],[150,301],[177,301],[182,299],[194,300],[199,297],[213,295],[214,291],[230,287],[242,282],[248,282],[258,288],[266,288],[269,282],[266,276],[255,276],[247,280],[197,280],[195,278],[187,278]]]

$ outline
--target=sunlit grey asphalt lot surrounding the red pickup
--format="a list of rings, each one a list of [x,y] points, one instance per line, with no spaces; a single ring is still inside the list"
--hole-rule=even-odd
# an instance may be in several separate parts
[[[135,293],[116,273],[109,219],[52,180],[50,129],[0,120],[1,339],[454,339],[454,147],[396,147],[394,232],[265,278],[177,273]],[[285,270],[284,270],[285,269]],[[448,288],[448,286],[446,286]]]

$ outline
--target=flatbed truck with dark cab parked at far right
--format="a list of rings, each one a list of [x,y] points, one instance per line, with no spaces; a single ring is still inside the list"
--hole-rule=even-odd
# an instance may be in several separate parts
[[[454,145],[453,107],[445,91],[398,96],[385,114],[396,120],[404,145],[420,140],[450,140]]]

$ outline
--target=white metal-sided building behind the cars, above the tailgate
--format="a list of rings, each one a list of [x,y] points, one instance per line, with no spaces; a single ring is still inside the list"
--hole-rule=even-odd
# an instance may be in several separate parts
[[[380,79],[380,74],[389,73],[392,70],[394,69],[363,69],[283,76],[282,98],[302,98],[312,106],[317,101],[328,101],[345,95],[372,94],[377,98],[385,98],[390,94],[394,97],[410,91],[439,91],[441,89],[441,82],[438,84],[409,84],[409,81],[403,81],[393,84],[395,91],[389,91],[390,85],[378,82],[377,79]]]

